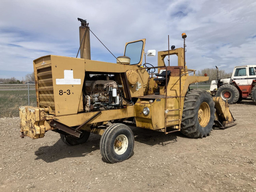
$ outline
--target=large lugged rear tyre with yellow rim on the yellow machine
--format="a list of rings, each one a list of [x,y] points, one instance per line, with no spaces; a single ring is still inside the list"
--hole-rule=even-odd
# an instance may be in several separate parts
[[[203,138],[210,134],[214,124],[214,101],[210,93],[192,89],[184,99],[181,132],[192,138]]]

